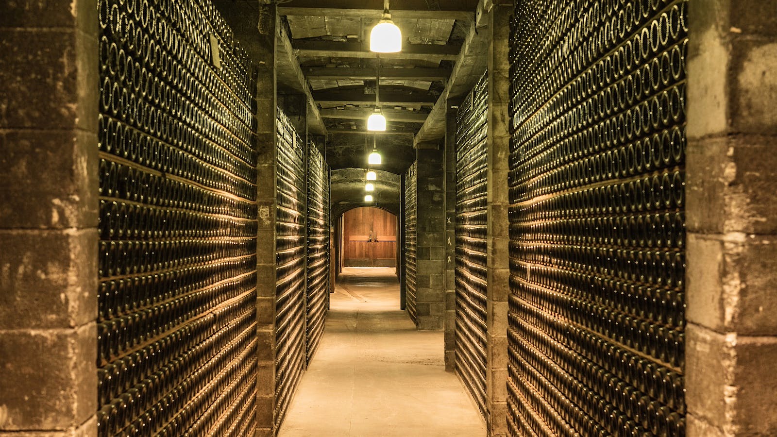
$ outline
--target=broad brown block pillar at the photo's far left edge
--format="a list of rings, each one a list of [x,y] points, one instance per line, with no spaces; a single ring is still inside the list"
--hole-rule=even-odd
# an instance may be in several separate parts
[[[96,1],[0,6],[0,435],[96,435]]]

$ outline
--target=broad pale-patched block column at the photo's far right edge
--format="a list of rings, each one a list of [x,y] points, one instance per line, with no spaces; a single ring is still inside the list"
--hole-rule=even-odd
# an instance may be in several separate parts
[[[777,1],[692,9],[688,435],[775,435]]]

